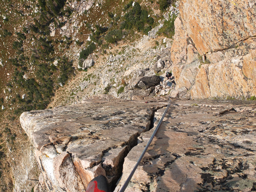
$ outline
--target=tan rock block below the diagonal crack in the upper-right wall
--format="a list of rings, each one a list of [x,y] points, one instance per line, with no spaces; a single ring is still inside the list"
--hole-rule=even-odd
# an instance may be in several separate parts
[[[235,97],[248,98],[256,94],[255,61],[251,54],[233,57],[214,64],[205,64],[190,90],[192,98]],[[249,58],[249,59],[248,59]],[[249,60],[249,61],[248,61]],[[252,69],[254,68],[254,69]]]

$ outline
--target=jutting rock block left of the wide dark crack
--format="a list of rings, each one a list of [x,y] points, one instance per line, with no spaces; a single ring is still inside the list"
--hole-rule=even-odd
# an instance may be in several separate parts
[[[98,175],[116,184],[124,157],[140,133],[149,130],[154,111],[166,103],[110,99],[20,116],[41,170],[37,189],[81,192]]]

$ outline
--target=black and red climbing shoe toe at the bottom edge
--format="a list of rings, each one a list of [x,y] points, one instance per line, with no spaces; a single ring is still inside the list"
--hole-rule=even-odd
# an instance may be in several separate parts
[[[107,178],[103,175],[95,177],[88,184],[86,192],[110,192]]]

